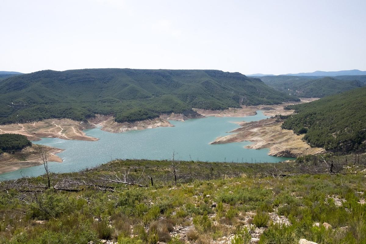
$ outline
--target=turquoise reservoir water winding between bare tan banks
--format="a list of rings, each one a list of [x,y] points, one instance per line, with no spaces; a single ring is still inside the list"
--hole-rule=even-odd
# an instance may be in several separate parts
[[[53,172],[72,172],[91,168],[112,159],[171,159],[209,162],[280,162],[289,158],[269,156],[269,149],[245,149],[251,142],[210,145],[219,136],[228,135],[239,127],[233,121],[265,119],[261,111],[247,117],[208,117],[185,122],[170,121],[175,127],[158,127],[140,131],[110,133],[100,128],[88,129],[86,135],[99,138],[96,142],[42,138],[36,144],[64,149],[57,154],[62,163],[49,164]],[[42,165],[0,174],[0,180],[44,173]]]

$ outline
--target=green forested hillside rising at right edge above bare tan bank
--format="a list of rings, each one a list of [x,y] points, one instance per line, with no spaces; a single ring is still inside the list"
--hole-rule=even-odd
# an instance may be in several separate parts
[[[349,152],[366,148],[366,87],[287,106],[296,114],[282,127],[293,129],[312,146]]]

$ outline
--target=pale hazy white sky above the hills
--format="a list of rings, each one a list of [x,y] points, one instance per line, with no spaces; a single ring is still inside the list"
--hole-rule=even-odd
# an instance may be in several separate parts
[[[365,10],[365,0],[0,0],[0,70],[366,70]]]

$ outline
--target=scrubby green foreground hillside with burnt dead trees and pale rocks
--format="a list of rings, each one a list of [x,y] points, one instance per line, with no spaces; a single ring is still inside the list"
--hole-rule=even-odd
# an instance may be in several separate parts
[[[50,188],[45,176],[4,181],[0,243],[366,243],[365,165],[365,154],[278,164],[115,160],[51,174]]]

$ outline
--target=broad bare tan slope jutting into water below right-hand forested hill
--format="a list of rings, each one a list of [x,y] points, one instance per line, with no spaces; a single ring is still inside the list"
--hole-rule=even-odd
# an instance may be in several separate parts
[[[282,120],[269,118],[265,120],[242,122],[235,134],[216,138],[210,144],[250,141],[250,149],[269,148],[269,155],[278,157],[298,157],[306,154],[318,154],[325,150],[310,147],[302,140],[303,135],[296,135],[291,130],[282,129]]]

